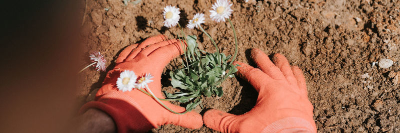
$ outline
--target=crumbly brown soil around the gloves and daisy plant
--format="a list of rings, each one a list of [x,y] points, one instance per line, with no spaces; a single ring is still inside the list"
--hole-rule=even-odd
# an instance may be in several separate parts
[[[208,16],[214,1],[141,0],[124,5],[122,0],[87,0],[81,32],[84,50],[104,53],[110,70],[119,52],[130,44],[156,34],[177,37],[177,28],[162,26],[164,6],[177,5],[180,23],[186,24],[196,12]],[[259,48],[267,54],[281,53],[299,66],[304,71],[318,132],[400,132],[396,81],[400,78],[400,0],[232,1],[231,19],[239,41],[237,60],[252,64],[249,49]],[[204,28],[225,54],[233,54],[234,38],[227,25],[207,19]],[[214,50],[199,30],[185,32],[197,35],[206,51]],[[388,69],[372,66],[382,58],[395,63]],[[161,79],[165,90],[172,88],[167,72],[174,66],[175,61],[166,67]],[[365,73],[369,77],[361,78]],[[104,77],[105,72],[92,68],[82,72],[81,104],[90,91],[100,87]],[[224,95],[206,98],[204,110],[197,111],[203,114],[213,108],[243,114],[254,106],[257,93],[248,83],[232,78],[222,86]],[[190,130],[166,125],[152,132],[215,131],[205,126]]]

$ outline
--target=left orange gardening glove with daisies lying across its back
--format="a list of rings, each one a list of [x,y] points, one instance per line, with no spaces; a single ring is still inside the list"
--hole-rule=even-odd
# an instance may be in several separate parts
[[[186,44],[177,39],[166,40],[164,35],[158,35],[126,47],[116,59],[114,69],[108,71],[95,101],[83,105],[80,113],[90,108],[102,110],[113,119],[118,133],[146,132],[165,124],[200,128],[203,122],[198,113],[173,114],[137,89],[122,92],[116,87],[117,78],[124,70],[133,71],[137,76],[150,73],[154,78],[148,87],[156,97],[164,98],[161,95],[161,73],[170,60],[183,53],[181,46]],[[175,112],[185,111],[169,102],[163,103]]]

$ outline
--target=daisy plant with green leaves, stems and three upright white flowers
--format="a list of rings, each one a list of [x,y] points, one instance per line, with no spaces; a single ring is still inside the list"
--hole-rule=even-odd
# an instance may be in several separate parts
[[[186,111],[182,113],[173,112],[162,104],[164,108],[175,114],[184,114],[197,106],[202,108],[201,96],[221,97],[223,95],[221,83],[229,77],[234,77],[233,73],[237,71],[237,65],[232,64],[237,55],[237,38],[233,24],[229,19],[232,12],[230,9],[231,5],[232,4],[228,0],[217,0],[212,5],[213,10],[210,10],[210,17],[216,22],[224,22],[225,20],[229,22],[235,39],[235,52],[233,57],[221,53],[212,37],[201,27],[201,23],[204,23],[204,14],[195,14],[186,27],[189,29],[193,29],[194,27],[199,28],[215,46],[215,52],[213,53],[199,49],[196,42],[197,37],[195,35],[184,34],[182,27],[178,23],[179,8],[170,5],[166,6],[163,12],[165,19],[163,22],[164,26],[169,28],[178,25],[180,28],[180,35],[177,34],[177,36],[179,40],[184,40],[187,44],[186,49],[183,51],[184,55],[182,55],[183,57],[181,58],[181,68],[169,72],[172,87],[178,88],[180,91],[174,93],[167,93],[164,91],[167,99],[156,98],[152,94],[148,94],[145,91],[142,92],[153,97],[157,102],[159,100],[178,101],[186,104]],[[180,41],[180,44],[183,46],[184,42]]]

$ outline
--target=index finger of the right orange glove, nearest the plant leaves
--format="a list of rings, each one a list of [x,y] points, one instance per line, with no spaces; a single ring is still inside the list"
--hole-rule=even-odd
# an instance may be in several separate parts
[[[245,63],[235,61],[233,64],[239,65],[236,67],[239,77],[247,80],[257,92],[260,91],[262,83],[265,82],[265,78],[269,78],[268,75],[263,73],[261,70],[253,68]]]

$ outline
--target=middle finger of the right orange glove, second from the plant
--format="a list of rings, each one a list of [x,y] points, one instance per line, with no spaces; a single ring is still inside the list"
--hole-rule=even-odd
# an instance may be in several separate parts
[[[280,69],[269,60],[269,57],[263,51],[257,48],[251,49],[251,57],[255,64],[272,79],[280,80],[285,78]]]

